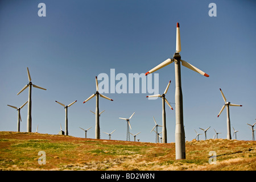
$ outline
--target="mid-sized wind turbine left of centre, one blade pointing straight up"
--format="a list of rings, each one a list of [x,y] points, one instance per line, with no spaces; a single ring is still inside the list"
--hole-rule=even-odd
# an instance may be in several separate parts
[[[91,98],[96,96],[96,111],[95,111],[95,120],[96,120],[96,126],[95,126],[95,138],[100,139],[100,114],[99,114],[99,109],[98,109],[98,96],[101,96],[103,98],[106,98],[110,101],[113,101],[111,98],[108,98],[98,92],[98,79],[96,76],[96,93],[92,94],[89,98],[87,98],[83,103],[89,101]]]

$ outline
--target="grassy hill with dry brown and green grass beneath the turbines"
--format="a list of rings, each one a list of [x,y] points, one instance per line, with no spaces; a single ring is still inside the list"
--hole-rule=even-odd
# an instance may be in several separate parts
[[[39,151],[46,164],[39,164]],[[215,151],[217,164],[209,164]],[[0,170],[256,170],[256,141],[208,139],[175,143],[126,142],[0,131]]]

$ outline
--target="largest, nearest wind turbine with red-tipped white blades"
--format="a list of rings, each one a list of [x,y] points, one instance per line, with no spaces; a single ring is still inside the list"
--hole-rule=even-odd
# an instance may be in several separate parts
[[[206,73],[201,71],[200,69],[194,67],[193,65],[187,63],[184,60],[181,60],[180,52],[181,44],[180,44],[180,25],[177,23],[176,28],[176,52],[174,53],[173,59],[167,59],[163,61],[163,63],[159,64],[155,68],[151,69],[146,73],[153,73],[158,69],[165,67],[168,64],[175,63],[175,117],[176,117],[176,128],[175,128],[175,153],[176,159],[185,159],[185,132],[183,126],[183,97],[181,91],[181,73],[180,73],[180,62],[184,67],[192,69],[201,75],[209,77]]]

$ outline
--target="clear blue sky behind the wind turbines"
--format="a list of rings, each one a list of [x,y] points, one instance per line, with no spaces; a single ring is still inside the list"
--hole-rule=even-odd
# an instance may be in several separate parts
[[[38,16],[38,4],[46,4],[46,17]],[[209,3],[217,5],[217,16],[210,17]],[[207,128],[212,138],[226,138],[226,110],[219,88],[230,107],[230,121],[239,132],[237,138],[251,139],[246,123],[255,122],[255,1],[1,1],[0,2],[0,130],[16,131],[16,111],[28,90],[16,94],[28,83],[32,88],[32,132],[57,134],[64,129],[65,105],[69,107],[69,135],[94,138],[95,98],[82,104],[96,91],[95,76],[110,69],[115,74],[146,73],[175,52],[176,22],[180,23],[181,58],[209,77],[181,67],[185,136],[187,140]],[[175,102],[174,64],[159,73],[159,92],[172,81],[167,100]],[[99,81],[100,82],[100,81]],[[115,83],[117,84],[118,81]],[[117,129],[112,139],[126,140],[126,123],[142,142],[155,142],[150,133],[154,121],[162,123],[162,101],[147,100],[148,93],[105,93],[114,101],[100,98],[101,138]],[[174,110],[166,107],[167,142],[175,142]],[[21,131],[27,127],[27,106],[21,110]],[[131,136],[132,137],[132,136]],[[233,137],[233,129],[232,129]],[[200,136],[204,139],[203,135]],[[131,138],[132,139],[132,138]]]

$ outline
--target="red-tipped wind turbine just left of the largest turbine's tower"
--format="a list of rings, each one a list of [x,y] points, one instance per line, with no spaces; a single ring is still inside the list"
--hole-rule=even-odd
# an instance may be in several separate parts
[[[170,105],[170,103],[167,101],[166,99],[166,93],[168,91],[168,88],[171,84],[171,80],[168,82],[168,85],[166,87],[166,90],[164,91],[164,93],[162,95],[160,94],[156,94],[156,95],[152,95],[152,96],[147,96],[147,97],[162,97],[162,125],[163,125],[163,128],[162,128],[162,133],[163,133],[163,143],[167,143],[167,131],[166,131],[166,103],[169,107],[171,107],[172,109],[172,106]],[[174,109],[172,109],[174,110]]]

